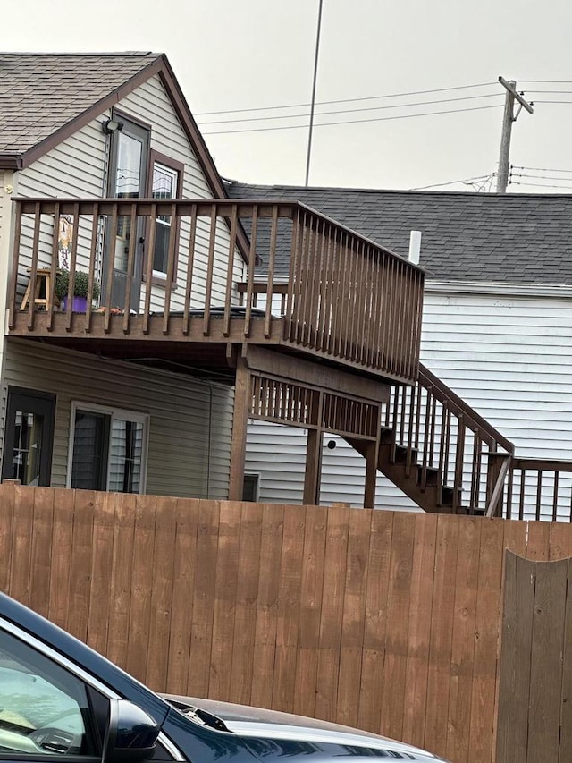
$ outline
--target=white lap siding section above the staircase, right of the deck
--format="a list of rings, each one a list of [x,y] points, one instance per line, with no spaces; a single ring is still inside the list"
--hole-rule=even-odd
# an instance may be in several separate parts
[[[572,458],[572,301],[425,295],[421,358],[514,442]]]

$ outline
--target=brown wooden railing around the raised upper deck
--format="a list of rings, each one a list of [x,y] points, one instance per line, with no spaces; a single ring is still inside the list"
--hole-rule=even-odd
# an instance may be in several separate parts
[[[68,225],[66,242],[62,220]],[[165,223],[164,278],[157,284],[153,254]],[[86,311],[75,313],[71,300],[65,318],[50,309],[44,331],[64,325],[67,332],[89,335],[94,315],[103,313],[98,320],[105,332],[119,320],[131,338],[136,338],[134,326],[148,333],[157,316],[167,338],[173,332],[189,335],[191,320],[198,318],[207,336],[217,317],[226,336],[231,321],[240,320],[246,339],[254,322],[262,321],[268,339],[280,321],[281,343],[398,380],[416,378],[423,271],[299,203],[16,199],[14,227],[8,305],[13,331],[18,326],[21,333],[24,320],[27,332],[38,330],[34,299],[24,306],[26,318],[21,315],[24,292],[29,286],[29,293],[37,294],[46,273],[54,291],[65,250],[70,295],[75,271],[88,273]],[[124,276],[120,300],[108,287],[118,247]],[[112,250],[114,257],[106,257]],[[95,301],[98,282],[102,296]],[[254,308],[257,295],[262,309]],[[47,296],[47,304],[55,305],[55,294]],[[177,314],[182,320],[173,321]]]

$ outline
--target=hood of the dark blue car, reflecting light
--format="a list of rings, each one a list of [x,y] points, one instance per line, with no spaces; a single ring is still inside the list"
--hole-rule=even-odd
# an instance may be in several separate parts
[[[282,740],[285,742],[307,742],[308,744],[334,744],[349,748],[376,750],[379,757],[403,758],[408,760],[442,760],[430,752],[420,750],[405,742],[397,742],[379,734],[360,731],[349,726],[332,724],[305,716],[294,716],[277,710],[251,708],[215,699],[198,699],[175,694],[162,694],[167,701],[173,701],[193,708],[206,710],[221,718],[228,731],[245,738]],[[393,753],[393,754],[392,754]],[[397,754],[394,754],[397,753]],[[371,753],[370,753],[371,754]],[[374,757],[375,753],[374,753]]]

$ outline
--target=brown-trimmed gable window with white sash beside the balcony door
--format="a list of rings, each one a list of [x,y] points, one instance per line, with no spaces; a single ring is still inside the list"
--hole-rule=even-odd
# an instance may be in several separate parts
[[[164,157],[156,151],[151,151],[151,197],[157,200],[181,198],[183,165]],[[157,215],[155,229],[155,245],[151,252],[153,257],[153,278],[157,282],[165,280],[169,272],[169,247],[174,241],[174,262],[172,267],[172,280],[177,280],[177,247],[178,247],[177,220],[171,215]]]

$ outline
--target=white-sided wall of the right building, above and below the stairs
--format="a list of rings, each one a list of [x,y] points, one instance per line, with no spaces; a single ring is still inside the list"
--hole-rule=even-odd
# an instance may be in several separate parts
[[[572,459],[572,297],[427,291],[421,361],[518,455]],[[250,422],[246,469],[260,474],[261,501],[301,503],[305,443],[304,430]],[[362,505],[364,479],[364,459],[324,436],[321,503]],[[375,505],[413,506],[383,477]]]

